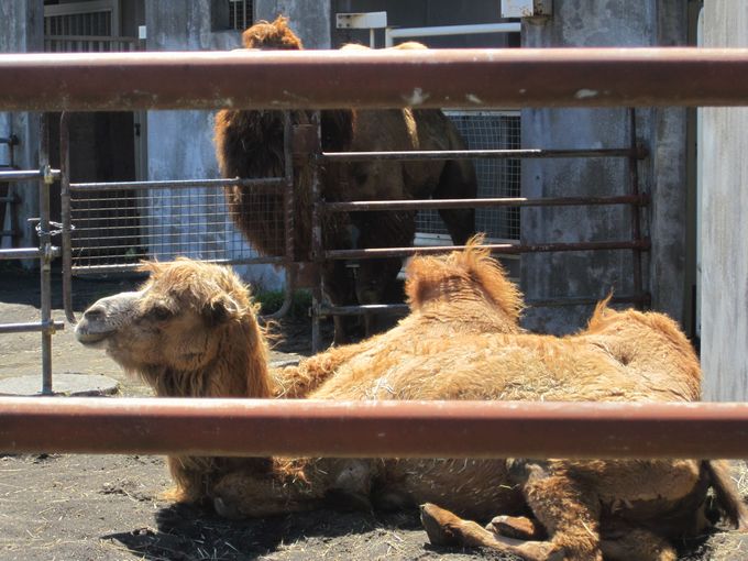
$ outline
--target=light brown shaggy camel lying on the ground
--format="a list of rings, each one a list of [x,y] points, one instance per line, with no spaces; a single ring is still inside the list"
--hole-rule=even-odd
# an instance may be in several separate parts
[[[462,271],[447,266],[450,261]],[[698,398],[698,364],[668,318],[602,304],[579,336],[517,333],[519,295],[505,278],[496,289],[486,286],[496,273],[502,276],[491,263],[476,248],[441,261],[415,258],[408,284],[414,311],[397,328],[354,345],[353,353],[336,349],[275,378],[264,365],[266,351],[246,289],[210,265],[150,265],[152,277],[142,290],[95,304],[76,333],[140,372],[160,395],[271,397],[308,391],[309,397],[340,399]],[[464,320],[462,309],[468,310]],[[474,324],[480,318],[486,324]],[[295,376],[302,378],[298,387],[289,381]],[[422,517],[437,542],[488,544],[525,559],[601,559],[603,553],[674,559],[668,540],[705,527],[708,485],[730,519],[744,516],[718,462],[227,462],[172,459],[169,465],[184,496],[212,498],[226,515],[314,508],[331,491],[370,493],[383,506],[427,503]],[[541,526],[549,538],[510,540],[499,534],[501,525],[492,527],[498,531],[482,530],[433,504],[484,520],[531,514],[536,522],[529,524]]]

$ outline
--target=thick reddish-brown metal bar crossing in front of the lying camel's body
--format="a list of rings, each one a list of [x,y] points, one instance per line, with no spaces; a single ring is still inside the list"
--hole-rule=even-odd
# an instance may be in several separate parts
[[[746,458],[748,404],[4,397],[0,452]]]

